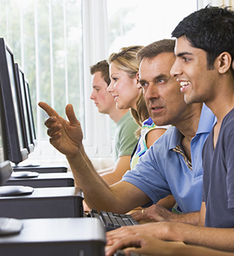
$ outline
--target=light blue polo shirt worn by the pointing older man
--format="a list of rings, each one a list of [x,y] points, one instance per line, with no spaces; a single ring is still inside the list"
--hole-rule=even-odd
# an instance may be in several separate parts
[[[191,162],[187,162],[180,150],[183,135],[171,127],[141,156],[135,168],[125,173],[122,181],[141,189],[154,204],[167,195],[174,195],[184,213],[200,211],[202,149],[214,120],[211,110],[203,104],[197,133],[190,143]]]

